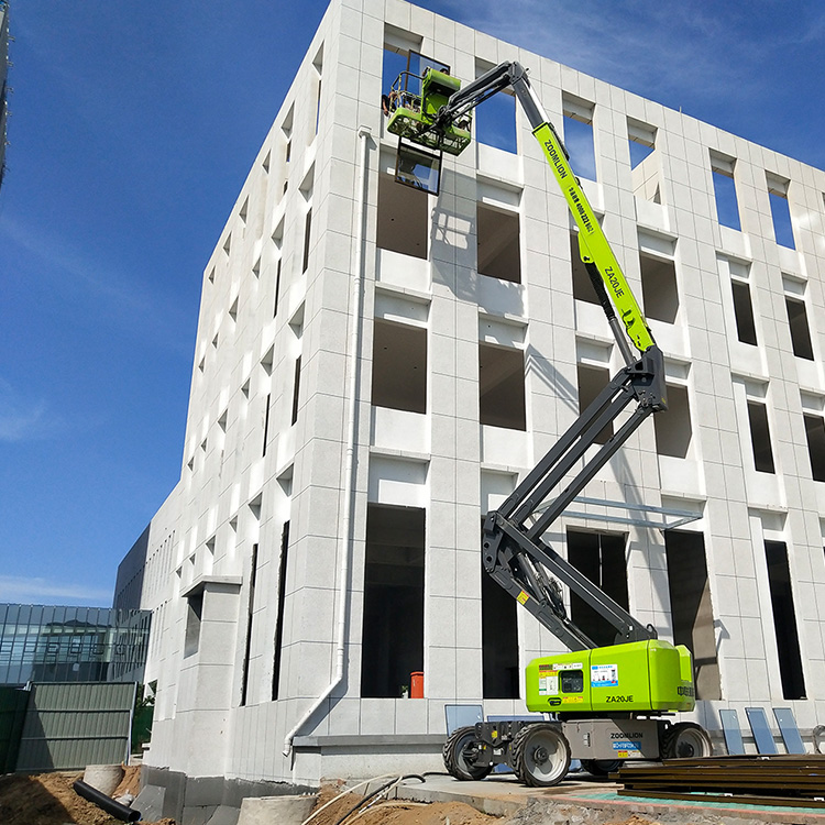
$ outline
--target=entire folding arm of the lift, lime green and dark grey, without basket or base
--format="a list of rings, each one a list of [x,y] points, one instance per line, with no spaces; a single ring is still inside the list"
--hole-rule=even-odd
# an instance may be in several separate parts
[[[657,637],[653,627],[635,619],[544,543],[542,536],[641,422],[651,413],[667,409],[662,353],[570,167],[564,145],[518,63],[503,63],[452,94],[438,111],[431,130],[444,133],[457,118],[507,88],[514,90],[521,103],[579,227],[582,261],[626,365],[509,498],[487,515],[482,539],[484,566],[502,587],[572,650],[596,645],[568,617],[559,582],[616,629],[616,644],[653,639]],[[628,338],[639,354],[634,353]],[[591,451],[591,455],[586,455],[604,428],[634,403],[636,408],[625,424],[595,453]]]

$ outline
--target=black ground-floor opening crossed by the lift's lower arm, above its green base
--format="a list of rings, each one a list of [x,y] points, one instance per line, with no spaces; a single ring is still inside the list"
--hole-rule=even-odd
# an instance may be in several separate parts
[[[614,602],[628,608],[625,536],[568,530],[568,561]],[[573,592],[570,616],[598,647],[615,644],[616,628]]]

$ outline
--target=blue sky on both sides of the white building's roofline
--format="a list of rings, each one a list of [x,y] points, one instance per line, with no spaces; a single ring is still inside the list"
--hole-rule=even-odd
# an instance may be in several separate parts
[[[420,4],[825,168],[818,3]],[[0,601],[109,604],[175,485],[202,268],[323,10],[12,0]]]

